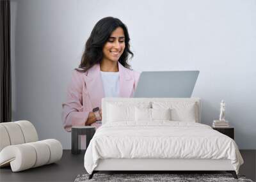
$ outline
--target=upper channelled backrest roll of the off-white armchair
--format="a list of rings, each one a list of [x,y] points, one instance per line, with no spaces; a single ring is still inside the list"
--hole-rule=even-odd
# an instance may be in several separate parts
[[[38,141],[36,129],[29,121],[0,123],[0,151],[6,146]]]

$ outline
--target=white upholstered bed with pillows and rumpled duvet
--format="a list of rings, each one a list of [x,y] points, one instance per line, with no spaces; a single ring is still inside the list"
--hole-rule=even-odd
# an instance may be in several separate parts
[[[200,123],[200,98],[104,98],[102,126],[84,155],[98,171],[227,171],[237,178],[236,142]]]

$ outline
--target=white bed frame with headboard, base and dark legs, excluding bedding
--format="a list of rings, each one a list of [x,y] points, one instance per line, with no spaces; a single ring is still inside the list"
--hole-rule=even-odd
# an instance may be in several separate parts
[[[198,123],[200,123],[201,116],[201,102],[200,98],[122,98],[122,101],[174,101],[179,100],[198,103]],[[102,99],[102,118],[106,118],[106,102],[118,102],[120,98],[103,98]],[[102,121],[104,123],[104,121]],[[99,171],[227,171],[232,173],[233,177],[237,179],[236,171],[230,160],[211,160],[211,159],[126,159],[126,158],[109,158],[100,159],[97,167],[95,167],[89,179],[93,174]]]

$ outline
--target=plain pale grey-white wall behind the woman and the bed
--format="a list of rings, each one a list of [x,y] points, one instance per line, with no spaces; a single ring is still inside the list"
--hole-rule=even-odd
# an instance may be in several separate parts
[[[220,101],[240,149],[256,149],[255,1],[11,1],[13,119],[28,119],[40,139],[70,148],[61,124],[70,73],[93,26],[106,16],[128,27],[138,71],[200,70],[193,96],[202,123],[217,119]]]

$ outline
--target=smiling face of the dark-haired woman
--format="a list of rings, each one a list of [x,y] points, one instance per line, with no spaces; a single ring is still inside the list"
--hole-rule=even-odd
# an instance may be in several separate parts
[[[102,61],[118,61],[125,49],[125,36],[122,27],[117,27],[109,36],[108,41],[103,47]]]

